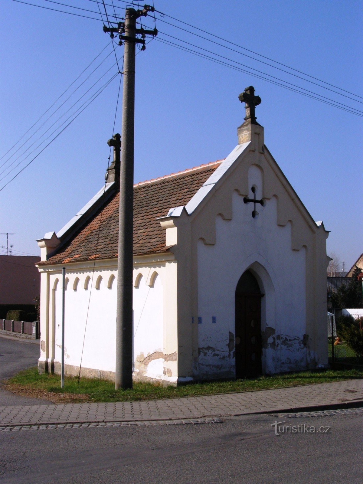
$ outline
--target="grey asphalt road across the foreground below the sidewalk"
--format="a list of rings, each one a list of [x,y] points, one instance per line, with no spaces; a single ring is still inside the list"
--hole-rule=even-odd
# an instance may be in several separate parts
[[[278,419],[329,433],[276,436],[275,419],[0,432],[0,482],[362,483],[363,413]]]

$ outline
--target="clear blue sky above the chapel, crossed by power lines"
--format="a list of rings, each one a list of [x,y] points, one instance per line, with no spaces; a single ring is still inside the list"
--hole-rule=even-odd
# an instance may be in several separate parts
[[[100,18],[99,13],[77,11],[45,0],[29,1]],[[59,1],[98,12],[94,1]],[[111,4],[111,0],[106,3]],[[117,13],[122,15],[125,4],[119,0],[114,0],[114,4]],[[360,1],[154,0],[154,4],[160,12],[363,96]],[[106,8],[112,15],[112,7]],[[0,13],[0,156],[105,49],[66,95],[2,158],[0,165],[4,163],[4,166],[0,172],[6,168],[7,171],[0,174],[0,178],[5,177],[0,181],[1,188],[61,127],[47,141],[46,136],[116,74],[117,68],[112,67],[115,55],[100,21],[11,0],[1,1]],[[363,111],[362,98],[346,93],[353,98],[348,99],[321,89],[243,56],[241,52],[253,55],[246,50],[231,45],[239,53],[227,50],[161,22],[161,19],[167,20],[190,30],[168,17],[162,18],[159,14],[156,17],[160,19],[156,20],[156,27],[163,32],[158,36],[160,40],[181,44],[165,34],[178,37],[326,96],[335,105],[342,103]],[[153,28],[151,18],[144,23]],[[246,86],[254,85],[262,99],[257,107],[257,121],[265,128],[267,147],[313,218],[323,220],[326,229],[331,230],[328,253],[335,252],[349,268],[363,252],[362,117],[172,48],[160,40],[153,40],[136,57],[135,181],[227,156],[237,144],[237,127],[244,116],[238,94]],[[121,58],[123,47],[117,47],[116,53]],[[54,116],[14,153],[105,58]],[[244,69],[240,64],[234,65]],[[108,74],[91,88],[108,69]],[[45,232],[58,231],[103,185],[109,154],[106,141],[112,136],[118,89],[119,76],[30,166],[0,191],[0,231],[15,232],[10,237],[14,250],[38,254],[35,239]],[[333,87],[330,89],[336,91]],[[82,100],[29,148],[83,94]],[[115,132],[121,132],[121,109],[116,116]],[[6,237],[0,237],[0,245],[4,245]]]

